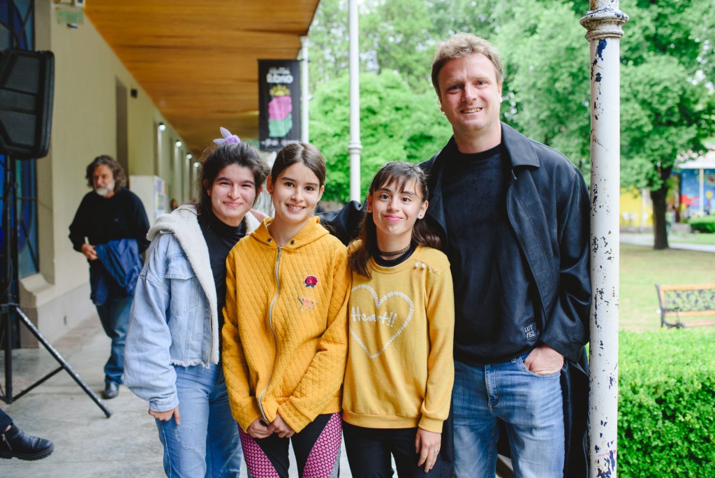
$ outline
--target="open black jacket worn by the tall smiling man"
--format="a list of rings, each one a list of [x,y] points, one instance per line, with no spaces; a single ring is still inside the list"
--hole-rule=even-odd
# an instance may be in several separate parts
[[[454,137],[420,167],[428,172],[427,220],[447,250],[442,176]],[[561,153],[502,123],[502,143],[511,162],[506,193],[509,222],[536,281],[541,342],[571,361],[588,342],[591,275],[588,241],[590,200],[581,172]],[[453,211],[452,213],[458,213]],[[539,313],[540,312],[540,313]]]

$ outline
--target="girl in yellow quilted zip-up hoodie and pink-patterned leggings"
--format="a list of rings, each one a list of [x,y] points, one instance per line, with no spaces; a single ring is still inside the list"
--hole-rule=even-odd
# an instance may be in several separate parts
[[[227,258],[223,365],[251,476],[337,476],[350,272],[312,215],[325,188],[315,147],[287,145],[266,187],[275,207]],[[220,438],[218,438],[220,439]]]

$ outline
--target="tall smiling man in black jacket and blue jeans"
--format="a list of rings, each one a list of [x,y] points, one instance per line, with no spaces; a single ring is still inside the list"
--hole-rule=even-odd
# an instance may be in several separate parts
[[[516,476],[584,477],[586,184],[561,153],[500,122],[503,67],[489,42],[456,34],[440,43],[432,82],[454,132],[421,165],[426,220],[454,278],[454,474],[493,477],[501,429]],[[330,220],[343,240],[357,212]]]

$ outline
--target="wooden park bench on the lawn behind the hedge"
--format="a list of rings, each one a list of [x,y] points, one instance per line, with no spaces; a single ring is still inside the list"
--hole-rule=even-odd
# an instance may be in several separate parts
[[[715,326],[715,284],[690,286],[656,284],[656,291],[661,305],[661,327]],[[700,319],[684,322],[681,320],[684,317]],[[670,322],[669,318],[671,318]]]

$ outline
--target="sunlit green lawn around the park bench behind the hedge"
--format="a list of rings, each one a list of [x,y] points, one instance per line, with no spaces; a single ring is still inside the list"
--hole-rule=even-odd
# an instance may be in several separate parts
[[[629,331],[660,327],[656,283],[715,283],[715,253],[621,244],[620,268],[619,328]]]

